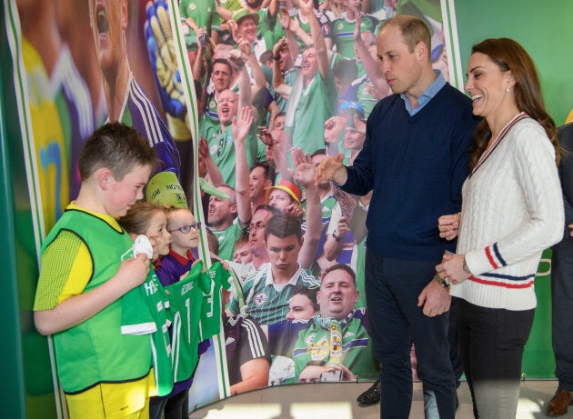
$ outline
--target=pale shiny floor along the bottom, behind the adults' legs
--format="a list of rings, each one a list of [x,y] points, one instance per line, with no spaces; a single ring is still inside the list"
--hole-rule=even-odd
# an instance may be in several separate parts
[[[266,388],[238,394],[224,401],[209,404],[189,414],[192,419],[378,419],[378,405],[358,405],[358,394],[371,383],[317,383],[286,385],[280,389]],[[518,419],[547,418],[543,406],[553,396],[557,382],[528,380],[521,384]],[[457,419],[473,418],[471,397],[463,382],[457,390],[459,409]],[[573,406],[568,414],[573,419]],[[421,384],[414,384],[411,419],[424,418]]]

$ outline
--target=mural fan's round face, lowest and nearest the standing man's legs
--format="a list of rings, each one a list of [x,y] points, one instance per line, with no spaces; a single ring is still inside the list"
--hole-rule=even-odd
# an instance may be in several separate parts
[[[317,300],[323,317],[342,320],[357,304],[357,285],[347,271],[335,269],[322,278]]]

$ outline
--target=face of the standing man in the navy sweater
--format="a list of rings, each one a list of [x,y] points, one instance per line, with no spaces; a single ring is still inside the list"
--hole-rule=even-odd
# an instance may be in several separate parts
[[[426,57],[419,55],[420,44],[409,52],[400,29],[396,25],[385,26],[377,37],[377,56],[387,84],[395,94],[418,93]],[[422,94],[423,92],[419,92]]]

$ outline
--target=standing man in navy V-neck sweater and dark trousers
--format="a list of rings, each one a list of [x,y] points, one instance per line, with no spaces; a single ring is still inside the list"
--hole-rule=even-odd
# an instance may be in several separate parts
[[[470,100],[432,69],[430,48],[427,26],[416,17],[399,15],[383,25],[377,55],[394,95],[369,116],[364,148],[352,166],[338,155],[317,170],[317,180],[333,179],[350,194],[374,190],[366,296],[380,362],[382,418],[408,417],[412,341],[426,417],[453,419],[456,409],[447,341],[450,295],[446,282],[433,280],[435,265],[455,244],[439,238],[437,218],[461,208],[478,121]]]

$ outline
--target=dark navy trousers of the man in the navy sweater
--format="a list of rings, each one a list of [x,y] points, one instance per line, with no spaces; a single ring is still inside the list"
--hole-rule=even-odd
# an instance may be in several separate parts
[[[417,297],[431,281],[436,264],[391,259],[367,251],[367,308],[380,363],[381,418],[409,416],[412,342],[424,393],[435,397],[440,419],[455,415],[456,384],[449,359],[448,314],[430,318],[417,306]]]

